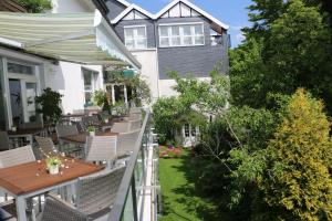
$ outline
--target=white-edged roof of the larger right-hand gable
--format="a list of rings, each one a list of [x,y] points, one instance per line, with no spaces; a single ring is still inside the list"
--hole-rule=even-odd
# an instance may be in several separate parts
[[[194,9],[195,11],[200,13],[201,15],[206,17],[207,19],[209,19],[211,22],[216,23],[220,28],[226,29],[226,30],[229,29],[229,25],[222,23],[221,21],[219,21],[218,19],[216,19],[215,17],[209,14],[208,12],[204,11],[203,9],[198,8],[197,6],[195,6],[194,3],[191,3],[188,0],[174,0],[174,1],[172,1],[169,4],[167,4],[164,9],[162,9],[158,13],[155,14],[155,19],[159,19],[164,13],[166,13],[168,10],[170,10],[173,7],[175,7],[179,2],[183,2],[183,3],[187,4],[189,8]]]

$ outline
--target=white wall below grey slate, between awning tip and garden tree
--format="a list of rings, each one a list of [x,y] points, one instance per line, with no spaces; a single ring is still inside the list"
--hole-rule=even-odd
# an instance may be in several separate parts
[[[156,50],[135,51],[132,54],[142,64],[141,78],[145,80],[152,92],[152,102],[159,97],[158,63]]]

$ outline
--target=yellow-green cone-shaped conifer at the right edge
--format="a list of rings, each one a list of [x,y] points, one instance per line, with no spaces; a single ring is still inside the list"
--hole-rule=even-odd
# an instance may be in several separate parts
[[[330,126],[322,103],[297,91],[269,143],[267,170],[258,182],[279,219],[332,219]]]

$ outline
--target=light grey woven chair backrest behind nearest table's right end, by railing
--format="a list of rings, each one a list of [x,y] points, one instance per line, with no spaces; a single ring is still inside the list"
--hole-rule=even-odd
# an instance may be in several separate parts
[[[86,141],[86,161],[111,161],[116,158],[116,136],[92,136]]]

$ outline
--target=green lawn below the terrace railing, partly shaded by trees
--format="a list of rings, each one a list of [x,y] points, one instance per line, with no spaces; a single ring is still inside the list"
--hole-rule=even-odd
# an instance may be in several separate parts
[[[214,203],[196,188],[195,159],[188,152],[177,159],[160,159],[159,176],[164,207],[162,221],[220,220]]]

